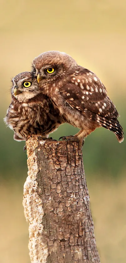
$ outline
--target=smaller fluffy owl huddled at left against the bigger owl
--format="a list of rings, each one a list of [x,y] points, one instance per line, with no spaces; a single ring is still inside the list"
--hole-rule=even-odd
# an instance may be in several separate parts
[[[11,97],[4,121],[14,130],[15,140],[26,140],[28,135],[47,139],[64,122],[31,72],[20,73],[12,79]]]

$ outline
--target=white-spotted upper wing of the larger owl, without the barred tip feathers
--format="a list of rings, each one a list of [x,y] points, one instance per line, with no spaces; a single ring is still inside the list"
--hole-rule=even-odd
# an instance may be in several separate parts
[[[119,116],[113,102],[106,94],[106,88],[91,71],[82,69],[60,90],[65,101],[82,112],[91,111],[102,116]]]

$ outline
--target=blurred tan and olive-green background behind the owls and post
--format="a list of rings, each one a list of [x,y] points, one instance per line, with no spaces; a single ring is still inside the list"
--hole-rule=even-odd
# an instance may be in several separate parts
[[[27,177],[24,142],[13,140],[3,117],[11,101],[11,77],[30,71],[35,56],[48,50],[71,55],[107,87],[126,130],[125,0],[1,0],[0,8],[0,262],[30,263],[28,223],[23,214]],[[53,138],[75,134],[63,124]],[[83,146],[86,179],[102,263],[126,262],[126,143],[103,128]]]

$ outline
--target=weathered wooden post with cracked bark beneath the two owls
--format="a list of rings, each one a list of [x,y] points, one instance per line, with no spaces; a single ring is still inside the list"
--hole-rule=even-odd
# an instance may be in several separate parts
[[[29,138],[24,213],[32,263],[99,263],[78,143]]]

